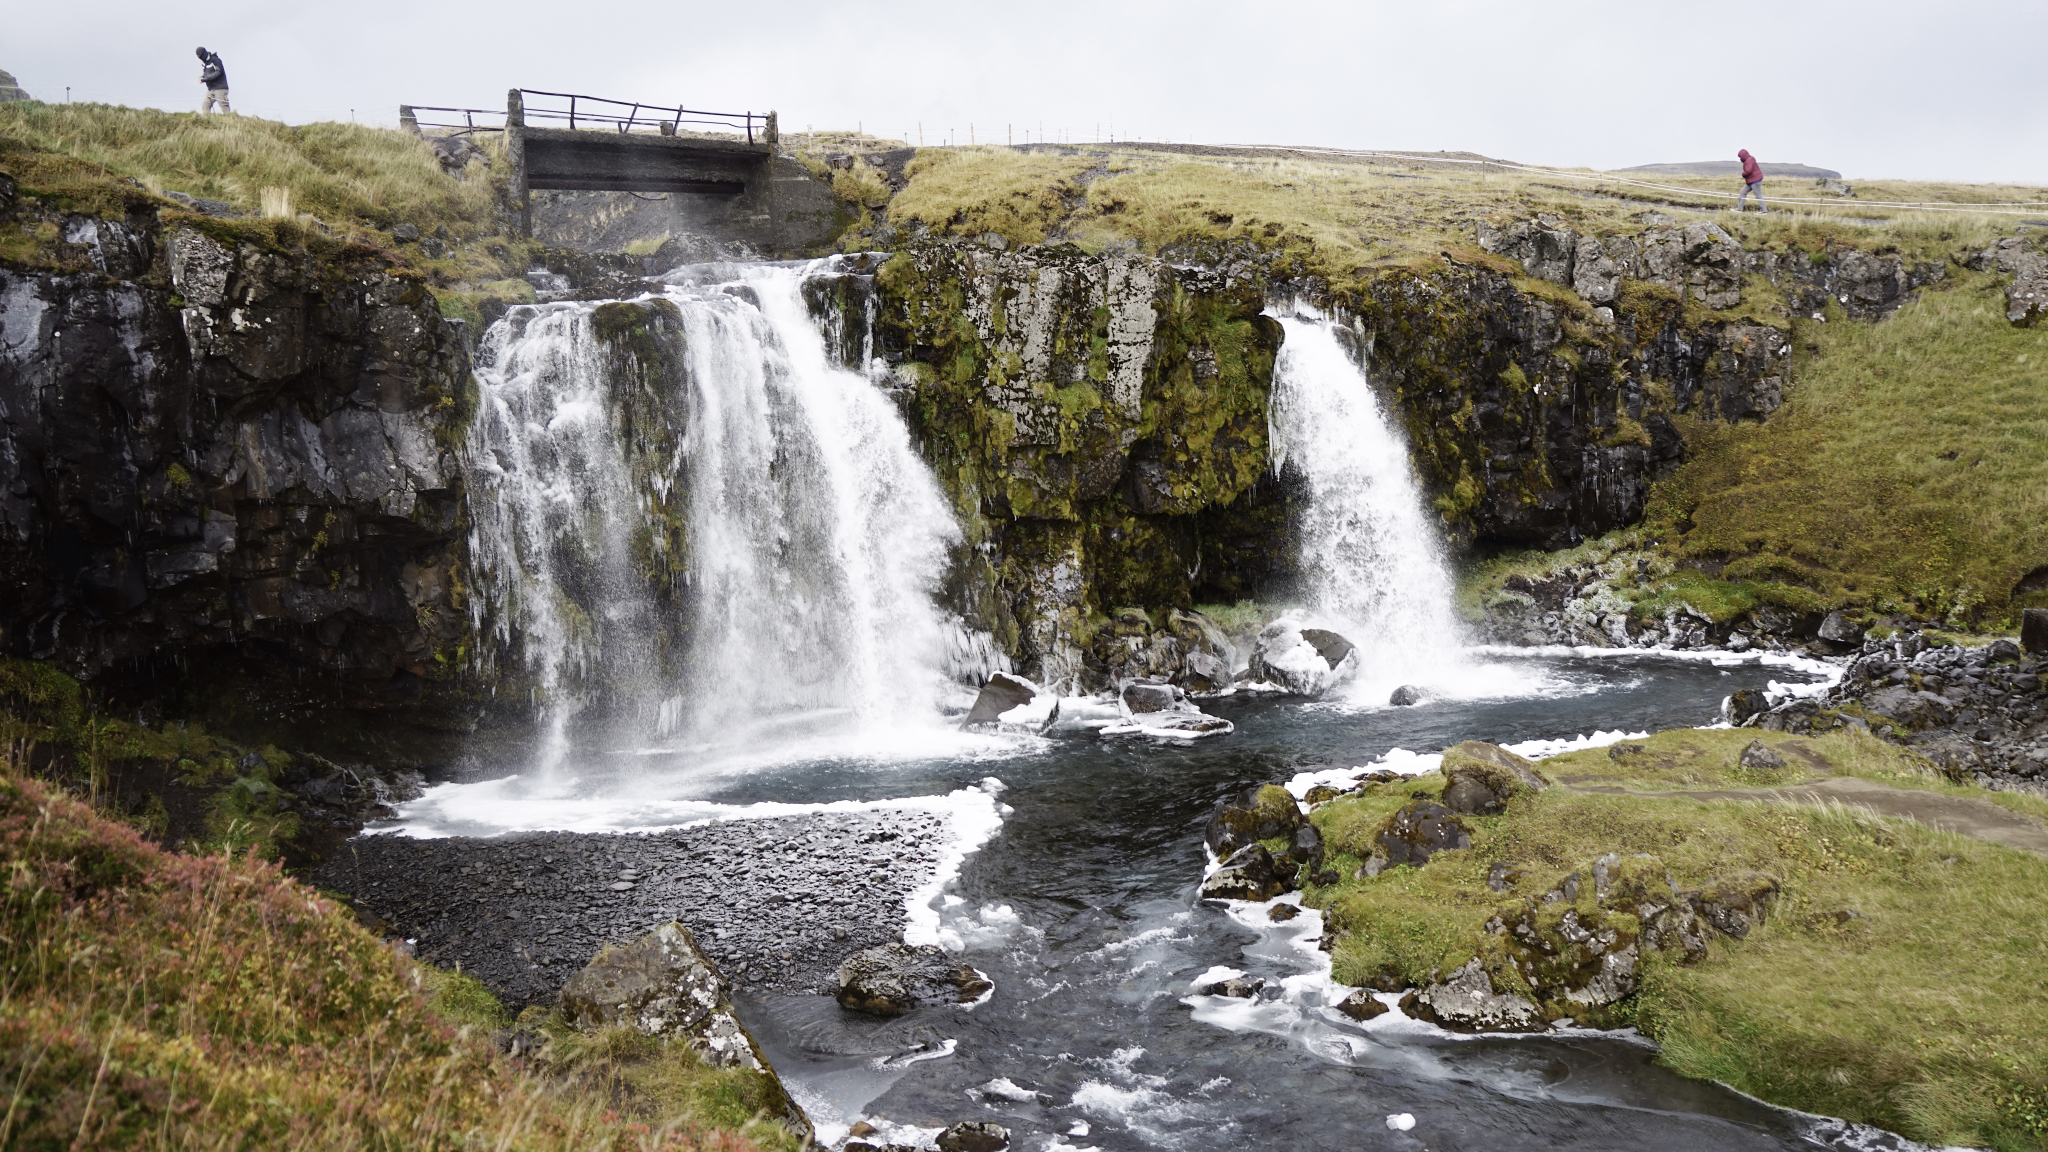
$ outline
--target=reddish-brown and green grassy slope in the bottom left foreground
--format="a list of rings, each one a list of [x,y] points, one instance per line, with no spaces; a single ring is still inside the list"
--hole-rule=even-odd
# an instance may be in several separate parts
[[[250,855],[176,855],[0,765],[0,1146],[793,1148],[752,1074],[565,1037],[524,1068],[473,980]]]

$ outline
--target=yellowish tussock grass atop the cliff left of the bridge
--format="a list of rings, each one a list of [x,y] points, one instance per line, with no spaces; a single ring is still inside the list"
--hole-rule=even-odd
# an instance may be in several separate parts
[[[0,168],[31,193],[74,201],[74,211],[106,211],[104,174],[139,180],[152,193],[178,191],[256,213],[264,189],[287,189],[297,211],[326,223],[489,230],[504,180],[502,141],[489,176],[442,174],[426,141],[391,129],[256,117],[201,117],[115,105],[0,105]],[[102,172],[104,170],[104,172]]]

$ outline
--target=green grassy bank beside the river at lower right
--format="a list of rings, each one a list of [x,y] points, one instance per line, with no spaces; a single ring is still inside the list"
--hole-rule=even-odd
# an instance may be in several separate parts
[[[1837,773],[1964,791],[1862,734],[1667,732],[1620,763],[1595,748],[1540,769],[1630,789],[1755,785],[1735,754],[1759,736],[1792,765],[1804,760],[1790,748],[1804,748]],[[1333,867],[1350,877],[1380,822],[1411,791],[1438,789],[1440,777],[1421,777],[1319,806]],[[2048,812],[2038,797],[2015,808]],[[1610,851],[1655,855],[1679,888],[1763,871],[1784,886],[1763,929],[1720,939],[1694,965],[1653,953],[1608,1023],[1640,1027],[1679,1072],[1778,1105],[1933,1144],[2048,1148],[2048,904],[2036,898],[2048,859],[1845,808],[1567,789],[1466,822],[1468,851],[1311,890],[1341,933],[1337,980],[1419,984],[1479,955],[1513,988],[1487,918]],[[1495,861],[1522,869],[1505,894],[1485,886]]]

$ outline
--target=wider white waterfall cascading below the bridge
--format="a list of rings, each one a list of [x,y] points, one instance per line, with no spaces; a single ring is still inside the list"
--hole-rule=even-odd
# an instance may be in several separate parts
[[[705,264],[492,328],[465,443],[473,613],[535,685],[543,767],[578,713],[702,740],[915,724],[948,662],[987,650],[934,599],[952,510],[846,367],[866,367],[872,307],[848,279]]]

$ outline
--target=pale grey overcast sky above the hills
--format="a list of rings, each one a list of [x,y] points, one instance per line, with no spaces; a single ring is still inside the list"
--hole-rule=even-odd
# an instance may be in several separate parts
[[[395,123],[545,88],[776,109],[784,131],[1470,150],[1620,168],[1733,158],[2048,184],[2048,2],[1135,0],[23,4],[41,100]],[[1098,129],[1100,125],[1100,129]]]

